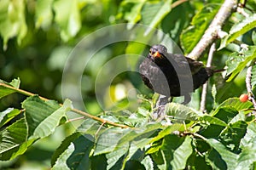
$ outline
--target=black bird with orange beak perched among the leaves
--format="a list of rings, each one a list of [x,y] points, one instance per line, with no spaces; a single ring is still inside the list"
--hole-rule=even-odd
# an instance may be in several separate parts
[[[183,54],[168,53],[161,44],[150,48],[139,71],[148,88],[166,97],[184,96],[183,104],[189,103],[190,93],[207,82],[214,72]]]

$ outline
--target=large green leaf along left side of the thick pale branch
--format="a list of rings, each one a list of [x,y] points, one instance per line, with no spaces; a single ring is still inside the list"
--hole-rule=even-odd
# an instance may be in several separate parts
[[[195,48],[195,45],[207,30],[215,14],[217,14],[219,7],[219,4],[210,3],[195,14],[191,21],[191,26],[185,29],[180,37],[184,54],[189,54]]]

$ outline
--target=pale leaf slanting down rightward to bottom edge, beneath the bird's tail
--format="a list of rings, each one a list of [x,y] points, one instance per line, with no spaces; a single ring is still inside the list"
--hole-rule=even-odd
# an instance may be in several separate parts
[[[224,144],[221,144],[216,139],[207,139],[207,143],[210,144],[214,150],[217,150],[219,156],[221,156],[220,159],[224,160],[228,169],[236,168],[238,155],[234,154],[230,150],[227,150]]]

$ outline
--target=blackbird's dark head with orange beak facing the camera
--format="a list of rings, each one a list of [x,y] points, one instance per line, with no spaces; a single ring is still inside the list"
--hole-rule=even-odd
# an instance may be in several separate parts
[[[148,58],[152,61],[157,61],[166,58],[167,48],[163,45],[154,45],[150,48]]]

